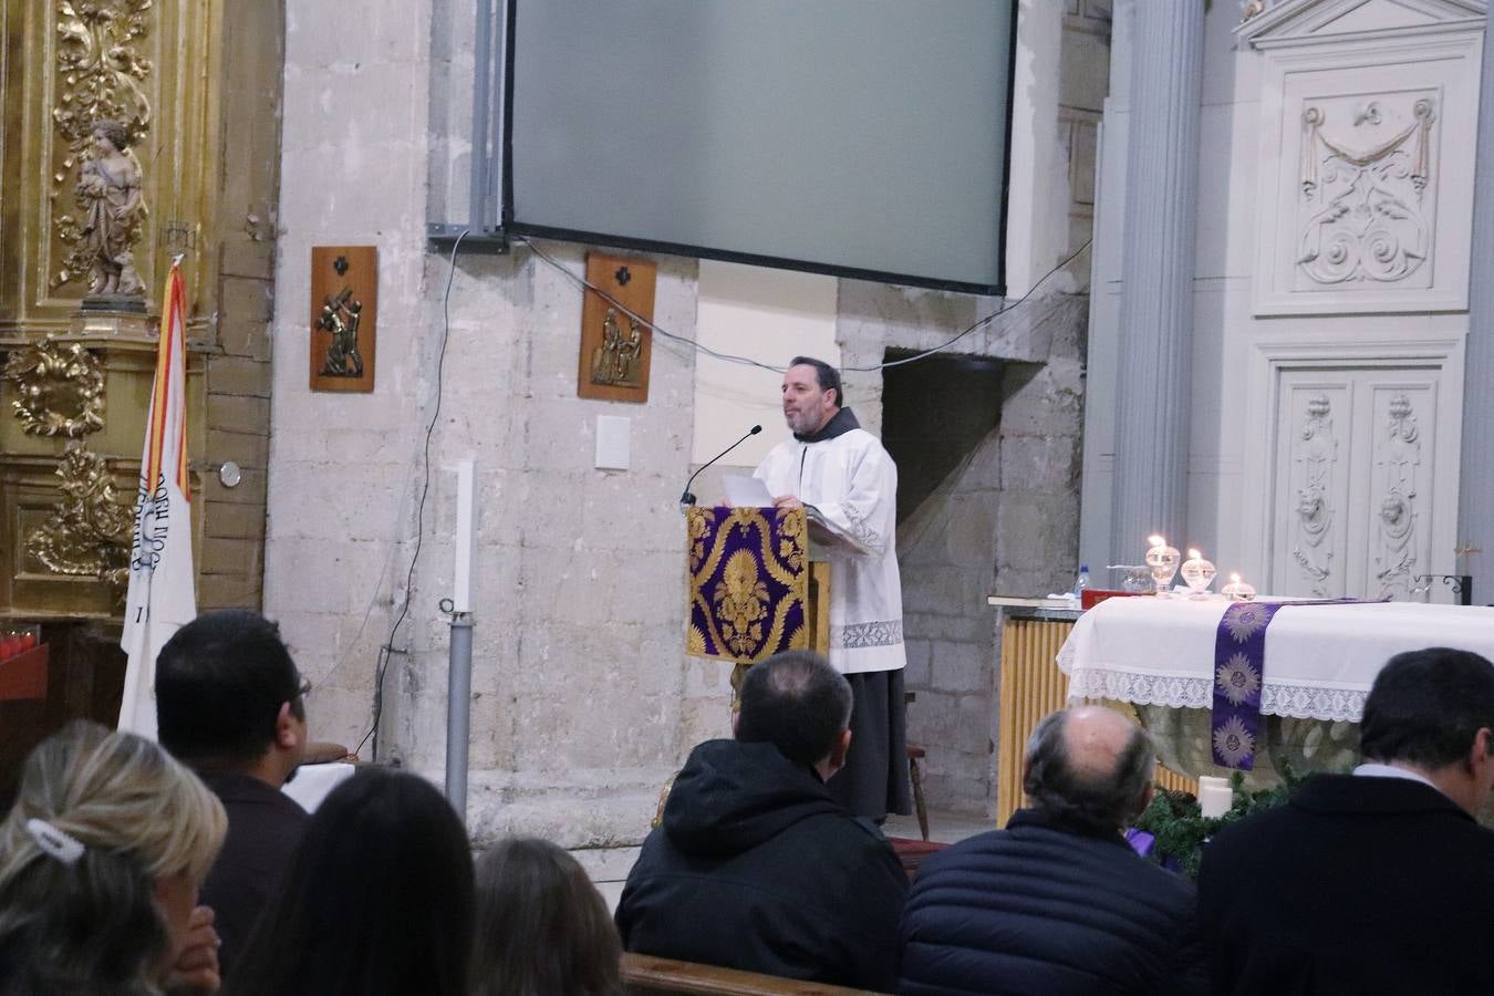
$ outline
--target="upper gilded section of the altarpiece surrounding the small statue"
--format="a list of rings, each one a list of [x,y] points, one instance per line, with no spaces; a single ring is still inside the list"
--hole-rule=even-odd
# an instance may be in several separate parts
[[[173,255],[196,318],[218,285],[220,3],[6,0],[0,342],[60,333],[88,291],[78,187],[94,124],[124,125],[143,176],[133,251],[154,306]]]

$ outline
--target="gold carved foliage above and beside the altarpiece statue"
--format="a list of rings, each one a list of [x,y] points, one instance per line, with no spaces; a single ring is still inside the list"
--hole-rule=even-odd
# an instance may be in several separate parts
[[[123,128],[125,146],[134,145],[149,131],[151,105],[142,81],[152,66],[140,55],[151,30],[154,0],[55,0],[57,1],[57,105],[52,122],[57,136],[67,143],[63,160],[52,172],[49,200],[57,202],[72,179],[73,211],[54,214],[57,237],[69,248],[57,273],[51,278],[55,290],[87,276],[96,267],[97,246],[90,243],[90,205],[85,194],[84,167],[93,161],[96,127],[114,121]],[[133,160],[128,148],[118,149]],[[139,163],[134,163],[136,176]],[[76,176],[76,179],[75,179]],[[118,218],[121,230],[112,231],[114,246],[134,245],[143,222],[143,208]],[[97,293],[97,291],[96,291]]]

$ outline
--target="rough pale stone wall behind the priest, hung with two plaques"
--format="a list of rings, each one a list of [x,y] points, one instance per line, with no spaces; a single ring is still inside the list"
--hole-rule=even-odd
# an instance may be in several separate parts
[[[430,81],[433,69],[462,64],[439,39],[459,36],[462,22],[444,1],[369,0],[350,34],[341,9],[287,3],[264,605],[317,684],[312,733],[357,744],[387,662],[378,760],[439,779],[448,633],[438,603],[451,593],[453,464],[474,458],[474,836],[484,844],[521,830],[568,847],[614,845],[642,836],[689,747],[728,730],[729,669],[689,660],[681,648],[675,502],[692,469],[695,357],[656,337],[647,405],[581,400],[575,282],[524,246],[508,255],[463,246],[453,270],[448,246],[427,245],[427,194],[445,184],[430,154],[450,127],[442,111],[451,100],[438,100]],[[451,154],[463,155],[454,145]],[[376,388],[311,393],[311,246],[369,243],[379,251]],[[581,273],[583,246],[541,248]],[[689,339],[696,263],[657,261],[656,321]],[[986,632],[950,623],[950,632],[959,626],[985,641],[959,659],[986,669],[970,679],[983,688],[994,687],[985,596],[994,587],[1046,590],[1073,570],[1073,496],[1062,488],[1083,393],[1080,287],[1059,278],[959,343],[961,352],[1010,361],[994,445],[1001,467],[1025,475],[1002,479],[989,542],[991,563],[1017,588],[988,569],[985,582],[958,593],[959,615]],[[881,427],[881,375],[858,367],[874,367],[889,348],[938,345],[999,303],[841,281],[835,334],[864,424]],[[629,470],[592,464],[601,414],[632,420]],[[1056,470],[1034,466],[1049,458]],[[991,523],[958,518],[959,529]],[[947,662],[965,666],[953,653]],[[944,724],[967,738],[967,726],[979,724],[968,736],[989,741],[995,708],[986,696],[980,715],[974,705],[935,711],[937,699],[925,706],[920,697],[914,736]],[[931,751],[931,784],[964,791],[956,782],[970,776],[967,753],[979,756]]]

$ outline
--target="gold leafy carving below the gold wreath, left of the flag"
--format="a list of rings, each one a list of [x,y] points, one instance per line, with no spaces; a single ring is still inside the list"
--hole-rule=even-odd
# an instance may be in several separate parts
[[[27,538],[27,553],[55,573],[99,578],[123,588],[130,576],[133,506],[120,496],[96,452],[69,449],[57,476],[63,479],[63,500]]]

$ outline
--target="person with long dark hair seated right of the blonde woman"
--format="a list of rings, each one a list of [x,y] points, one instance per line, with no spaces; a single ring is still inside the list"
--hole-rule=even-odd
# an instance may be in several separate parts
[[[472,851],[426,779],[368,768],[332,790],[239,957],[232,996],[466,996]]]

